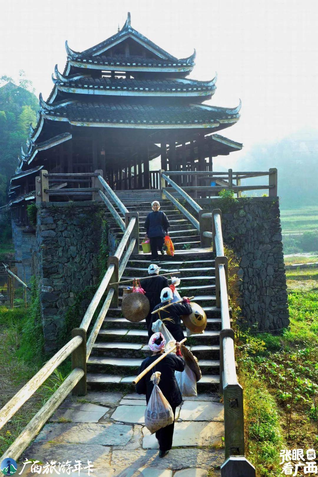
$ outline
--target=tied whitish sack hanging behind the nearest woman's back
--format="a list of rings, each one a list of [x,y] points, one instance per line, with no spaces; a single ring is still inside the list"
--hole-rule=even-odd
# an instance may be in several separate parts
[[[147,429],[154,434],[162,427],[166,427],[174,422],[174,414],[171,405],[168,403],[158,384],[161,373],[156,371],[150,380],[154,383],[149,402],[144,412],[144,424]]]

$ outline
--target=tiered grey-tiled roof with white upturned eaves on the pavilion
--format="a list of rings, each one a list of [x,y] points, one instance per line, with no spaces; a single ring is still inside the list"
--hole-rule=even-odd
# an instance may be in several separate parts
[[[130,13],[120,31],[92,48],[75,52],[67,41],[65,46],[66,66],[62,74],[55,67],[54,87],[46,102],[40,94],[38,122],[35,128],[30,125],[26,152],[21,148],[18,175],[34,173],[29,167],[39,151],[72,138],[68,132],[56,135],[69,131],[69,126],[63,129],[65,122],[82,127],[192,128],[207,134],[239,119],[241,102],[236,108],[201,104],[215,93],[216,76],[211,81],[185,78],[195,65],[195,51],[187,58],[176,58],[134,30]],[[51,121],[60,121],[61,126],[52,128]],[[54,137],[48,139],[50,131]],[[219,154],[241,147],[216,136],[206,141]],[[15,190],[19,188],[12,187],[10,192]]]

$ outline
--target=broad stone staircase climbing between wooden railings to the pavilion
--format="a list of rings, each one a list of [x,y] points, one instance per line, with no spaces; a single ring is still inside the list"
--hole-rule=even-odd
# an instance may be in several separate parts
[[[121,198],[121,197],[120,197]],[[155,195],[139,199],[122,199],[129,211],[138,211],[140,239],[144,238],[144,220],[151,211],[150,203]],[[215,306],[215,260],[211,249],[200,248],[200,236],[193,225],[169,201],[160,200],[161,210],[169,218],[170,237],[174,242],[174,257],[164,255],[159,266],[161,273],[180,271],[178,287],[181,296],[195,296],[195,302],[205,310],[207,326],[204,334],[187,338],[186,345],[197,357],[202,378],[197,384],[198,392],[215,391],[219,385],[219,332],[221,330],[220,309]],[[117,209],[118,210],[118,209]],[[119,210],[118,210],[119,212]],[[117,236],[123,232],[107,218]],[[150,254],[132,254],[123,273],[122,280],[148,276]],[[127,286],[127,285],[125,285]],[[92,390],[114,388],[133,389],[133,378],[143,359],[151,352],[145,321],[132,323],[122,317],[121,303],[124,285],[119,287],[119,306],[110,308],[87,362],[87,384]],[[185,328],[184,328],[185,330]],[[185,332],[186,336],[186,332]]]

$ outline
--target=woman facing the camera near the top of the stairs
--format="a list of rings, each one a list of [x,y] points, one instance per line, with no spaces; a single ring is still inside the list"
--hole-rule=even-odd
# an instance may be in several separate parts
[[[150,260],[153,262],[159,260],[158,250],[164,255],[164,236],[169,235],[170,223],[165,213],[159,210],[160,204],[157,200],[152,202],[151,207],[153,211],[147,215],[144,228],[146,229],[145,238],[150,240]]]

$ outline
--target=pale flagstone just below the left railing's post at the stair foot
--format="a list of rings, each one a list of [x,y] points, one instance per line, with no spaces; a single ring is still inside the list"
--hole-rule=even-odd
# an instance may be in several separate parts
[[[98,422],[109,411],[109,407],[91,403],[63,403],[51,417],[51,422],[61,422],[66,419],[71,422]]]

